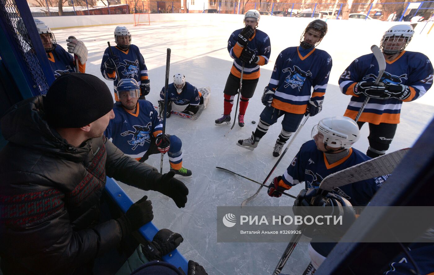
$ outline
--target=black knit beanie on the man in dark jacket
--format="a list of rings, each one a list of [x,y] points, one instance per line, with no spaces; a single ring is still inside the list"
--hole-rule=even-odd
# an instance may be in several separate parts
[[[85,73],[60,75],[44,98],[46,120],[54,128],[80,128],[113,109],[109,87]]]

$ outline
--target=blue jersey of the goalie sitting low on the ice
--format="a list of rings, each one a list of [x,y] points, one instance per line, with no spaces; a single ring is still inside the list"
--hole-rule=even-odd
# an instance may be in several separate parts
[[[168,85],[168,101],[172,101],[176,105],[199,105],[201,101],[201,92],[196,87],[188,82],[185,82],[181,94],[178,94],[173,83]],[[164,87],[160,92],[160,100],[164,100]]]

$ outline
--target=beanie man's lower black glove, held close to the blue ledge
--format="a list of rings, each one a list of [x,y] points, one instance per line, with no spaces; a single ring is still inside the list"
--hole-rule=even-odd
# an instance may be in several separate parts
[[[146,223],[149,223],[152,219],[154,219],[152,203],[148,200],[148,196],[143,196],[143,198],[133,203],[127,210],[127,213],[116,219],[116,221],[121,226],[123,238]]]

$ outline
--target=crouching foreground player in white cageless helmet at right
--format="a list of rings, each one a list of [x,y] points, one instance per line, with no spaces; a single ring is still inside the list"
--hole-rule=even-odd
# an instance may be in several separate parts
[[[352,148],[360,138],[360,131],[350,118],[323,118],[312,128],[311,136],[313,140],[302,145],[285,173],[270,183],[269,196],[280,197],[282,191],[302,181],[306,189],[318,188],[328,175],[370,159]],[[349,200],[353,206],[365,206],[385,179],[387,176],[347,184],[333,193]]]

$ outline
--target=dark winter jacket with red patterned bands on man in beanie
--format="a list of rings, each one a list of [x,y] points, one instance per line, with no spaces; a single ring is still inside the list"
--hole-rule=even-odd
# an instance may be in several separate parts
[[[0,151],[1,268],[83,274],[121,241],[115,220],[97,224],[106,175],[149,190],[158,173],[104,136],[68,144],[44,120],[43,98],[21,101],[1,120],[9,141]]]

